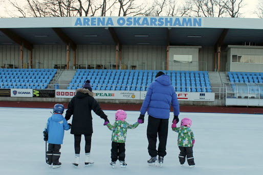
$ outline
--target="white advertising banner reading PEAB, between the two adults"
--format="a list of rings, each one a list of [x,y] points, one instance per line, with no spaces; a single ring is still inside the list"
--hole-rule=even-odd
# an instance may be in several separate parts
[[[93,91],[95,99],[140,100],[139,91]]]

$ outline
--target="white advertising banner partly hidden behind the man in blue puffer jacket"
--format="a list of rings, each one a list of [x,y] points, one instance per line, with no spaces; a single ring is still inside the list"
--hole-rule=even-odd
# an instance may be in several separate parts
[[[141,100],[144,100],[146,91],[141,92]],[[182,101],[214,101],[214,93],[177,92],[177,99]]]

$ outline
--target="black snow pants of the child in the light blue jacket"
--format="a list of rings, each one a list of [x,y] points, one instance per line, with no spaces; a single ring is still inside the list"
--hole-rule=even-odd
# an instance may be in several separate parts
[[[59,152],[60,148],[61,145],[49,143],[49,148],[47,151],[47,158],[49,165],[51,165],[52,163],[53,165],[58,165],[60,154],[61,154],[61,152]]]

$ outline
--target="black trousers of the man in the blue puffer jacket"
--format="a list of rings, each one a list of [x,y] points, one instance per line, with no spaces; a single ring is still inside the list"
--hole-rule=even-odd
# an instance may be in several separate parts
[[[156,157],[157,155],[164,157],[166,155],[168,122],[169,119],[158,119],[152,116],[148,117],[148,152],[151,157]],[[159,138],[158,150],[156,150],[157,135]]]

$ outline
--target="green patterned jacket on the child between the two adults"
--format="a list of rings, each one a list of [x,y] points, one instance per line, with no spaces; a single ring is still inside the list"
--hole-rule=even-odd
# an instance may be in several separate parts
[[[129,124],[126,121],[117,120],[113,125],[107,124],[109,130],[113,131],[112,141],[117,143],[125,143],[127,129],[134,129],[139,125],[138,122]]]

